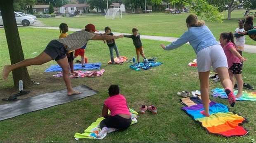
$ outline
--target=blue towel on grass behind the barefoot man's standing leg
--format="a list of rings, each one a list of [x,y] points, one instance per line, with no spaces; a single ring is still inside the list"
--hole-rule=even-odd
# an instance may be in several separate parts
[[[94,64],[84,64],[85,67],[82,67],[81,64],[75,64],[74,70],[78,69],[100,69],[101,63],[94,63]],[[55,71],[62,71],[62,68],[59,65],[51,65],[45,72],[55,72]]]

